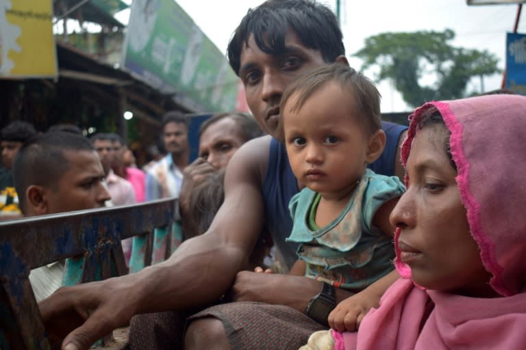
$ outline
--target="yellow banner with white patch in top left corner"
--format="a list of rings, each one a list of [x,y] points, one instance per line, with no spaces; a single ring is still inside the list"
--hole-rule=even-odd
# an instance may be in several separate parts
[[[0,77],[56,77],[52,0],[0,0]]]

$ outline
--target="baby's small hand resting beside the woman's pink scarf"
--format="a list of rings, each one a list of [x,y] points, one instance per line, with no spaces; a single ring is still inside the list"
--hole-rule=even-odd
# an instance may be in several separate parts
[[[329,314],[329,325],[338,332],[354,332],[371,308],[377,308],[380,298],[375,293],[362,291],[348,297]]]

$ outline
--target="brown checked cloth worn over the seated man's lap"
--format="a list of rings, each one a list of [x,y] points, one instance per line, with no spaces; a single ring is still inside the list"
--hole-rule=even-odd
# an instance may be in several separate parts
[[[298,349],[310,334],[326,329],[288,306],[236,302],[196,314],[170,311],[137,315],[130,325],[128,349],[183,349],[186,317],[188,323],[205,317],[221,320],[233,350]]]

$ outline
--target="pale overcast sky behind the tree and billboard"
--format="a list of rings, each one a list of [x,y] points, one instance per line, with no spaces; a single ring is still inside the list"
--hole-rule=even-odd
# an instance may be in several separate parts
[[[249,8],[263,0],[178,0],[190,17],[218,48],[226,50],[232,31]],[[130,0],[125,0],[130,3]],[[336,9],[336,0],[324,1]],[[517,5],[471,5],[466,0],[341,0],[342,31],[349,62],[360,68],[361,61],[351,55],[361,49],[364,39],[386,31],[443,31],[453,29],[454,46],[486,49],[501,59],[505,66],[505,36],[513,31]],[[526,9],[525,9],[526,11]],[[119,16],[121,21],[126,14]],[[124,19],[125,21],[125,19]],[[518,32],[525,31],[526,23],[519,23]],[[372,75],[372,72],[366,72]],[[486,78],[485,90],[500,87],[501,75]],[[479,79],[473,81],[472,90],[480,90]],[[390,83],[379,84],[382,95],[381,109],[408,111],[399,94]]]

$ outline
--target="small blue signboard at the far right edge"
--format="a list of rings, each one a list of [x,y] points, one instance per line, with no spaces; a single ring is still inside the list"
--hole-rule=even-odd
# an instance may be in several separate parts
[[[506,38],[506,88],[526,95],[526,35],[508,33]]]

